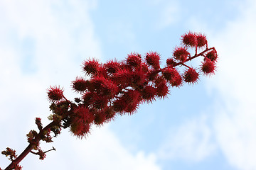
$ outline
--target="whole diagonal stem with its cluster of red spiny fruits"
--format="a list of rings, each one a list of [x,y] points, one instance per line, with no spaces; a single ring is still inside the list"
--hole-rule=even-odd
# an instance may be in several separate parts
[[[162,68],[157,52],[147,52],[144,57],[134,52],[123,61],[110,60],[104,64],[95,59],[85,60],[82,63],[85,77],[76,77],[72,82],[72,89],[80,94],[74,102],[65,98],[60,86],[50,86],[48,99],[53,113],[48,118],[53,121],[43,128],[41,118],[36,118],[39,133],[31,130],[27,134],[28,148],[9,168],[17,166],[21,169],[18,162],[29,152],[44,159],[46,152],[41,150],[39,142],[52,142],[50,132],[57,136],[62,128],[70,128],[76,137],[86,137],[93,124],[103,125],[117,115],[131,115],[139,104],[165,98],[171,87],[195,84],[199,74],[214,74],[218,55],[214,47],[208,48],[206,35],[188,32],[181,36],[181,40],[182,45],[175,47],[173,56]],[[193,56],[189,48],[195,50]],[[187,62],[196,57],[202,57],[202,64],[198,68],[188,66]],[[4,154],[14,157],[8,150]]]

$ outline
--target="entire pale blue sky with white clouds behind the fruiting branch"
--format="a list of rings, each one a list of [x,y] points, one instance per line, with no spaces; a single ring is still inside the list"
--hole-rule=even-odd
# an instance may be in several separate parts
[[[46,89],[82,76],[81,63],[161,54],[161,65],[189,30],[218,51],[215,75],[171,89],[164,100],[77,139],[63,130],[23,169],[256,169],[256,1],[0,0],[0,150],[20,154],[34,120],[47,125]],[[200,64],[194,62],[193,64]],[[0,156],[3,169],[9,160]]]

